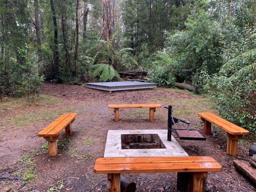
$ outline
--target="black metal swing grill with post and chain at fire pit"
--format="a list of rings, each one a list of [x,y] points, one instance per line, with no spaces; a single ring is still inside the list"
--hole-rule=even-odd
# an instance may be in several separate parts
[[[178,119],[173,117],[173,107],[168,106],[164,107],[168,109],[168,134],[167,134],[167,140],[172,140],[172,132],[175,133],[178,136],[178,139],[181,140],[200,140],[205,141],[206,138],[200,134],[198,130],[195,129],[189,129],[190,122],[184,119]],[[184,122],[187,124],[187,129],[175,129],[172,128],[173,125],[177,125],[179,122]]]

